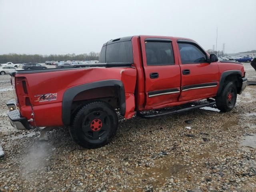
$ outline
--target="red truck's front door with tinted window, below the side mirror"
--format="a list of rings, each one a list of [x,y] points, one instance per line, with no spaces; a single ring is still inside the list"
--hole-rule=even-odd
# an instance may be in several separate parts
[[[209,63],[208,54],[196,42],[178,40],[176,43],[181,68],[179,101],[215,96],[219,83],[218,64]]]

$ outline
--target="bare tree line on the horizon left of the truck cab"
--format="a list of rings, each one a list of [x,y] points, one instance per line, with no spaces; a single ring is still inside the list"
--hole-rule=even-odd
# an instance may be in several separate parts
[[[44,63],[45,61],[66,61],[66,60],[99,60],[100,53],[90,52],[89,54],[2,54],[0,55],[0,63],[13,62],[13,63],[26,63],[36,62]]]

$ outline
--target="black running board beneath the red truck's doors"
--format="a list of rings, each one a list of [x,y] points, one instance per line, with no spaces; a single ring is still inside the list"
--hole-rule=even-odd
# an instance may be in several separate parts
[[[180,109],[180,110],[175,110],[175,111],[169,111],[169,112],[162,112],[156,115],[144,115],[141,114],[140,112],[137,112],[136,114],[141,117],[141,118],[154,118],[154,117],[158,117],[158,116],[163,116],[163,115],[173,115],[173,114],[178,114],[178,113],[182,113],[182,112],[187,112],[193,109],[198,109],[198,108],[202,108],[202,107],[207,107],[207,106],[211,106],[211,105],[215,105],[216,102],[209,102],[206,104],[200,104],[200,105],[196,105],[196,106],[192,106],[192,107],[188,107],[188,108],[184,108],[184,109]]]

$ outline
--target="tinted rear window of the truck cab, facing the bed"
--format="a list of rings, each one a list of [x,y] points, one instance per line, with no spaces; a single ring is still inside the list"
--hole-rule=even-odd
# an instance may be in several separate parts
[[[123,41],[102,47],[100,63],[133,63],[132,42]]]

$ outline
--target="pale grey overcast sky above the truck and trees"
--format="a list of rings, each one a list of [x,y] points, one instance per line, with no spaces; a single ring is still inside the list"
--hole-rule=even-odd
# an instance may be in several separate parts
[[[100,52],[132,35],[191,38],[204,49],[256,49],[256,0],[0,0],[0,54]]]

